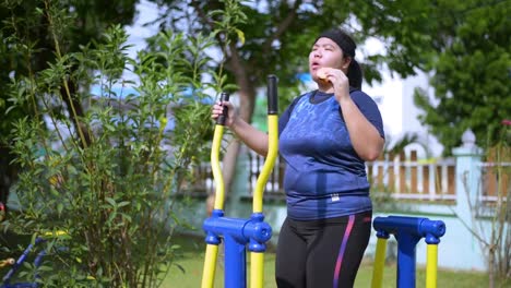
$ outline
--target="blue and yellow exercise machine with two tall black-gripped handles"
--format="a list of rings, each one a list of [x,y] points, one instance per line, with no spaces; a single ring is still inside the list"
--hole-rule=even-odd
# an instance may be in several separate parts
[[[228,100],[228,94],[223,93],[221,101]],[[224,179],[219,166],[219,148],[224,133],[227,109],[216,120],[211,149],[211,165],[215,180],[215,203],[211,217],[206,218],[203,229],[206,233],[206,253],[202,274],[202,288],[211,288],[214,284],[218,245],[224,240],[225,272],[224,287],[247,287],[246,249],[250,251],[250,287],[263,287],[264,251],[266,242],[272,237],[271,226],[264,221],[262,196],[268,178],[273,169],[278,153],[278,109],[277,79],[268,76],[268,128],[269,151],[263,169],[258,177],[252,195],[252,215],[248,219],[228,218],[224,216]]]

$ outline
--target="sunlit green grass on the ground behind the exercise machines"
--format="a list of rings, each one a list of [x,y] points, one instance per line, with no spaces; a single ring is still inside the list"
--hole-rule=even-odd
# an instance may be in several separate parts
[[[179,237],[175,239],[181,244],[182,255],[176,260],[175,264],[170,267],[169,274],[165,278],[163,288],[195,288],[201,286],[202,266],[204,262],[205,244],[202,239],[193,237]],[[221,249],[222,250],[222,249]],[[222,254],[222,252],[219,252]],[[247,256],[249,259],[249,256]],[[266,253],[264,256],[264,287],[276,287],[274,284],[275,274],[275,254]],[[249,269],[248,269],[249,271]],[[218,256],[218,263],[215,275],[215,287],[223,287],[224,269],[222,255]],[[249,274],[249,273],[248,273]],[[396,267],[395,265],[388,265],[384,268],[383,287],[396,287]],[[357,279],[355,281],[356,288],[366,288],[371,286],[372,265],[371,263],[364,263],[360,267]],[[416,287],[425,287],[426,274],[421,267],[417,268]],[[452,288],[473,288],[473,287],[488,287],[488,276],[484,273],[467,273],[456,271],[438,272],[438,287],[452,287]],[[510,286],[501,286],[510,287]]]

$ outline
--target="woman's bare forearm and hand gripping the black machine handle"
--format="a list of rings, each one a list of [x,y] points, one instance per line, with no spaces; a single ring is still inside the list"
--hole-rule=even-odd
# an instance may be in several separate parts
[[[230,129],[249,148],[262,156],[268,154],[268,134],[257,130],[243,119],[239,118],[231,103],[223,101],[213,105],[211,117],[216,120],[228,108],[225,125]]]

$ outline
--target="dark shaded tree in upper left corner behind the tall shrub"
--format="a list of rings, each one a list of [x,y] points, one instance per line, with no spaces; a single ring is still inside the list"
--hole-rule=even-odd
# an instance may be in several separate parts
[[[81,46],[98,39],[110,24],[127,25],[132,23],[135,14],[138,0],[27,0],[9,1],[0,3],[0,85],[5,87],[13,79],[34,75],[48,68],[57,55],[79,51]],[[49,13],[41,11],[57,9],[73,11],[67,13],[70,21],[66,24],[60,20],[51,19]],[[57,21],[57,22],[56,22]],[[69,25],[69,23],[72,23]],[[57,48],[55,35],[51,28],[58,29],[57,34],[62,37],[61,46]],[[22,39],[24,45],[20,45]],[[29,62],[31,64],[26,64]],[[76,69],[76,68],[74,68]],[[76,98],[81,87],[69,82],[67,84],[71,97],[63,97],[64,107],[72,118],[76,131],[81,131],[76,117],[84,115],[84,109]],[[84,83],[81,83],[84,84]],[[64,94],[62,85],[62,94]],[[13,164],[13,155],[9,147],[13,140],[10,132],[13,123],[26,115],[40,117],[35,113],[38,99],[29,105],[14,105],[9,99],[5,89],[0,91],[0,201],[5,203],[11,184],[16,179],[17,167]],[[72,111],[74,109],[74,112]],[[82,131],[84,137],[86,131]],[[76,135],[78,136],[78,135]]]

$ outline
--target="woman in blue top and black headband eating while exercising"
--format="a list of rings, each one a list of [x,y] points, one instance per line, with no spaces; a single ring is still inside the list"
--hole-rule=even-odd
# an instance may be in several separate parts
[[[378,158],[384,133],[377,105],[360,91],[355,49],[345,32],[322,33],[309,53],[318,89],[296,98],[278,121],[287,202],[276,253],[278,287],[353,287],[369,241],[365,161]],[[223,107],[229,108],[226,127],[265,155],[268,135],[237,117],[230,103],[214,105],[212,117]]]

